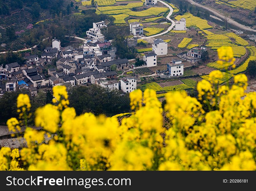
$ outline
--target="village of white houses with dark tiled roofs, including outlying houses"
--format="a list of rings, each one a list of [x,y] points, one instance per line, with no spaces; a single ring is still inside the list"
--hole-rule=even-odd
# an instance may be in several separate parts
[[[186,30],[186,19],[182,18],[175,22],[177,30]],[[95,84],[103,88],[122,90],[125,93],[132,92],[140,82],[139,76],[125,76],[118,78],[117,71],[132,70],[143,67],[157,66],[157,56],[167,55],[168,43],[162,39],[155,39],[152,44],[152,51],[143,56],[143,65],[135,66],[129,64],[127,58],[116,58],[116,48],[111,41],[106,40],[101,29],[107,27],[104,23],[93,23],[86,34],[87,39],[80,48],[71,46],[61,47],[60,40],[54,38],[51,47],[45,47],[41,58],[38,55],[24,57],[24,65],[6,63],[0,66],[0,96],[5,92],[26,88],[31,92],[31,96],[37,95],[40,88],[53,87],[56,85],[82,85]],[[138,38],[143,35],[143,26],[139,22],[130,23],[130,33],[133,38],[128,39],[128,46],[136,46]],[[195,62],[200,59],[201,51],[206,47],[193,47],[184,55],[177,55],[180,60],[172,60],[167,63],[167,69],[156,71],[161,78],[182,76],[184,65],[182,59]],[[48,69],[49,78],[42,74],[42,69],[47,63],[56,59],[56,67]],[[121,75],[120,75],[121,76]],[[6,80],[3,83],[2,80]]]

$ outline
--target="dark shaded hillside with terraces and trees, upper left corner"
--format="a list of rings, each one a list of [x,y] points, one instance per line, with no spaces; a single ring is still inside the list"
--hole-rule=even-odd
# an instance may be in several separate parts
[[[71,0],[3,0],[0,2],[0,51],[26,48],[24,34],[55,14],[67,14]],[[24,45],[25,44],[25,45]]]

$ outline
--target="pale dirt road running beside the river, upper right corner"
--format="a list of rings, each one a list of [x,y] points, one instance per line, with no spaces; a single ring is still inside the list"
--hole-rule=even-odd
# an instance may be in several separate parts
[[[200,4],[196,3],[196,2],[193,1],[193,0],[186,0],[186,1],[188,1],[188,2],[191,3],[192,5],[195,5],[195,6],[198,6],[198,7],[203,8],[203,9],[206,9],[206,10],[210,11],[211,13],[214,13],[214,15],[217,15],[218,17],[221,17],[222,19],[225,20],[225,16],[224,16],[224,15],[221,15],[220,13],[216,12],[215,10],[212,10],[212,9],[210,9],[210,8],[208,8],[208,7],[205,7],[205,6],[203,6],[203,5],[200,5]],[[233,24],[234,26],[237,26],[237,27],[239,27],[239,28],[242,28],[242,29],[244,29],[244,30],[256,32],[255,29],[252,29],[252,28],[250,28],[249,26],[242,25],[242,24],[240,24],[240,23],[238,23],[238,22],[236,22],[236,21],[234,21],[234,20],[232,20],[232,19],[230,19],[230,18],[227,19],[227,22],[230,23],[230,24]]]

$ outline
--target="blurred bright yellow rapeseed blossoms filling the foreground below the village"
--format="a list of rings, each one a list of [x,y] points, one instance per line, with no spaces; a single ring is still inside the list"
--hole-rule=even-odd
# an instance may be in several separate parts
[[[234,62],[230,48],[218,53],[220,62]],[[255,170],[256,93],[244,92],[244,74],[234,76],[232,86],[218,84],[222,75],[213,71],[209,81],[198,82],[198,99],[167,93],[164,109],[153,90],[131,92],[134,113],[121,123],[118,115],[77,116],[65,87],[55,86],[53,104],[35,113],[43,130],[27,127],[20,153],[1,148],[0,169]],[[19,119],[7,121],[10,131],[27,126],[28,95],[19,95],[17,107]]]

